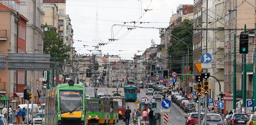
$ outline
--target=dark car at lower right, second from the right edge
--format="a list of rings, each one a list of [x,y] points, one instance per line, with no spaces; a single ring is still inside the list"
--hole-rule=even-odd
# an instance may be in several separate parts
[[[230,119],[230,125],[246,124],[249,121],[250,114],[233,114]]]

